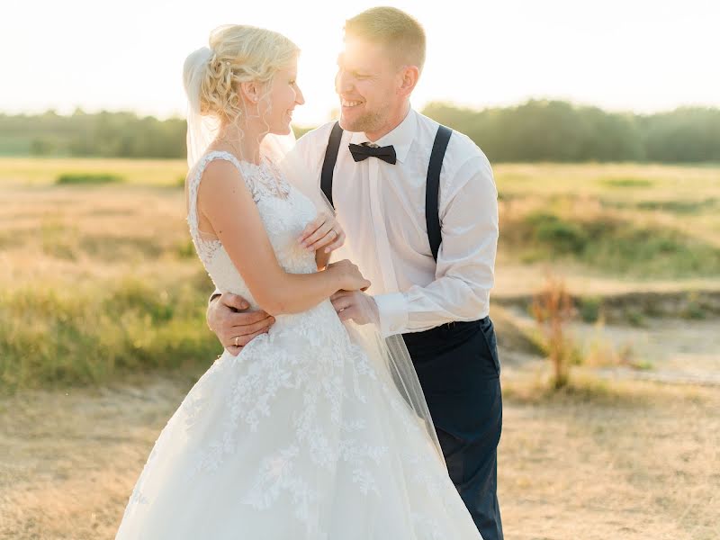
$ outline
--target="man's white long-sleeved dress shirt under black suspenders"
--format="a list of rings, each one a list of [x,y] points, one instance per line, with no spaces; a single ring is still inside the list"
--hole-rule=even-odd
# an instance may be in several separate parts
[[[309,168],[320,191],[320,171],[334,122],[298,140],[293,153]],[[410,112],[374,141],[392,145],[397,162],[377,157],[356,162],[348,143],[365,133],[343,133],[333,178],[333,202],[349,258],[372,282],[383,336],[432,329],[454,320],[478,320],[490,311],[498,243],[498,193],[490,163],[473,141],[453,132],[440,174],[442,244],[437,264],[425,220],[425,184],[438,123]]]

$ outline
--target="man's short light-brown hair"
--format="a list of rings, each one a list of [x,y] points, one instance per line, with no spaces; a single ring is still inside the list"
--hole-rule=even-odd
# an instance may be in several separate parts
[[[425,64],[425,30],[395,7],[372,7],[345,22],[345,35],[385,46],[402,64]]]

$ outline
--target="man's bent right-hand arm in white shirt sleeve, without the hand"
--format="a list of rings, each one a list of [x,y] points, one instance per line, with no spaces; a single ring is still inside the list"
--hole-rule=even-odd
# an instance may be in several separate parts
[[[498,192],[490,163],[472,157],[443,184],[435,281],[374,296],[384,336],[431,329],[490,312],[498,245]]]

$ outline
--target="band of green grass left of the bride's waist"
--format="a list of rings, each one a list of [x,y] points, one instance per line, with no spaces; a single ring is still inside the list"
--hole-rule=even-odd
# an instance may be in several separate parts
[[[0,292],[0,391],[209,367],[222,349],[205,323],[208,292],[198,284],[168,288],[129,277]]]

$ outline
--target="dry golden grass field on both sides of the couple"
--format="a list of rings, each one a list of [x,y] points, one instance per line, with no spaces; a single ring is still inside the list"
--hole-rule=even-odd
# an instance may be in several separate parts
[[[720,538],[720,167],[495,174],[506,538]],[[112,538],[220,352],[182,175],[182,161],[0,159],[2,539]],[[527,312],[546,275],[578,305],[579,365],[558,392]]]

